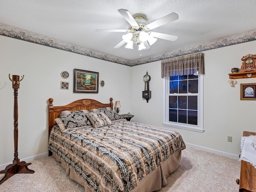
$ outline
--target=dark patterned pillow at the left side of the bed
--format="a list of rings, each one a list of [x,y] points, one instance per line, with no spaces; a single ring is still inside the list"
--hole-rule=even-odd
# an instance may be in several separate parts
[[[69,128],[84,127],[92,125],[90,120],[86,117],[86,113],[82,110],[80,111],[70,111],[70,113],[62,114],[59,118],[56,118],[54,121],[60,127],[60,130],[63,131]]]

